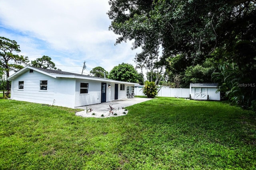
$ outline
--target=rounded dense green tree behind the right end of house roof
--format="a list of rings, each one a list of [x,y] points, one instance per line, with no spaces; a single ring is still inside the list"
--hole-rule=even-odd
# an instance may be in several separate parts
[[[138,72],[132,66],[132,64],[118,64],[109,73],[109,78],[113,80],[119,80],[124,82],[139,82]]]

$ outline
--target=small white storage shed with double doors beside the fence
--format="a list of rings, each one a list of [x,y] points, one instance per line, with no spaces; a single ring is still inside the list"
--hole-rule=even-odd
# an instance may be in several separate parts
[[[194,100],[220,100],[218,83],[190,83],[190,95]]]

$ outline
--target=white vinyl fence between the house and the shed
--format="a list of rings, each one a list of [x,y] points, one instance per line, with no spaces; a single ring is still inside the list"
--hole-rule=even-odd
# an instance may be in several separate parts
[[[135,87],[134,93],[137,96],[144,96],[142,93],[142,87]],[[189,98],[190,89],[189,88],[168,88],[162,87],[158,95],[159,97],[179,97],[179,98]]]

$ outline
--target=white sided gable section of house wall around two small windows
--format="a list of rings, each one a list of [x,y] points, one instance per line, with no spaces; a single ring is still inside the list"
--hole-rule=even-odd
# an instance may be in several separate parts
[[[47,80],[47,90],[40,90],[40,80]],[[24,89],[18,89],[19,81],[24,81]],[[52,104],[55,99],[55,79],[40,72],[29,70],[12,80],[11,99],[41,104]]]

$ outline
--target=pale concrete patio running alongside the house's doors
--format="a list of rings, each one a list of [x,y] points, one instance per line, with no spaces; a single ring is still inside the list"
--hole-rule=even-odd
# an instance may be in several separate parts
[[[120,100],[114,100],[112,102],[105,102],[105,103],[100,103],[100,104],[92,104],[88,106],[81,106],[81,107],[76,107],[77,109],[89,109],[92,108],[94,111],[102,111],[106,112],[109,111],[109,105],[114,108],[114,109],[122,109],[122,107],[127,107],[127,106],[132,106],[134,104],[138,104],[141,102],[145,102],[148,100],[151,100],[152,98],[131,98],[131,99],[120,99]]]

